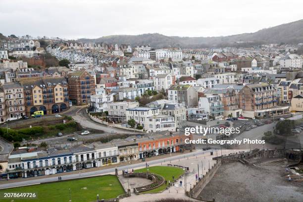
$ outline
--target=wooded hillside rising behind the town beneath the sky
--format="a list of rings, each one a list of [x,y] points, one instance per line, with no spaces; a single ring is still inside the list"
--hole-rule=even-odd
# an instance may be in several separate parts
[[[202,48],[214,45],[231,46],[235,42],[249,42],[251,44],[268,43],[303,43],[303,20],[278,25],[259,30],[254,33],[244,33],[225,37],[177,37],[161,34],[142,35],[112,35],[98,39],[79,39],[79,42],[104,42],[115,44],[150,44],[154,48]],[[237,45],[238,46],[238,45]]]

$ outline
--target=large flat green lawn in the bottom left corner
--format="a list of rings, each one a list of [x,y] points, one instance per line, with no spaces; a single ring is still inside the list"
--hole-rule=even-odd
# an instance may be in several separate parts
[[[64,178],[64,176],[62,177]],[[103,175],[92,178],[68,180],[27,187],[0,190],[0,201],[3,200],[3,193],[36,193],[36,199],[14,199],[14,202],[68,202],[69,189],[72,202],[92,202],[97,200],[97,194],[101,199],[115,198],[124,194],[124,189],[116,176]]]

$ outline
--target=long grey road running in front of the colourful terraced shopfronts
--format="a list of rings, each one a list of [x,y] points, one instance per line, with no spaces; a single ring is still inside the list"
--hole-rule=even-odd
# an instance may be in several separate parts
[[[227,153],[231,153],[231,152],[239,152],[239,151],[232,151],[232,150],[224,150],[223,154],[227,154]],[[167,164],[168,162],[175,161],[175,164],[178,164],[178,162],[180,161],[188,161],[187,157],[189,157],[189,160],[193,160],[193,162],[198,161],[196,159],[198,159],[198,157],[201,159],[203,159],[203,161],[205,161],[205,163],[203,164],[204,167],[208,167],[208,161],[210,162],[209,166],[213,165],[214,161],[212,160],[212,157],[214,157],[214,155],[210,155],[210,152],[207,151],[202,151],[202,150],[197,150],[195,152],[190,152],[190,153],[185,153],[185,154],[179,154],[179,155],[174,155],[174,156],[168,156],[165,158],[160,158],[160,159],[155,159],[155,160],[151,160],[148,161],[148,164],[150,166],[152,165],[161,165],[164,164],[164,161],[166,161],[165,164]],[[180,159],[180,161],[179,161]],[[199,162],[201,162],[199,160]],[[196,165],[194,163],[191,163],[193,165]],[[122,170],[127,170],[127,169],[139,169],[142,167],[145,167],[146,162],[140,162],[140,163],[136,163],[136,164],[129,164],[129,165],[125,165],[125,166],[119,166],[118,167],[118,171],[119,173],[121,173]],[[190,166],[190,165],[188,165]],[[77,178],[82,178],[82,177],[91,177],[91,176],[98,176],[98,175],[104,175],[104,174],[114,174],[115,172],[115,168],[107,168],[107,169],[102,169],[102,170],[96,170],[96,171],[91,171],[91,172],[83,172],[81,173],[81,170],[78,170],[77,173],[72,172],[73,174],[70,175],[64,175],[62,178],[63,180],[68,180],[68,179],[77,179]],[[18,181],[18,182],[3,182],[3,184],[0,184],[0,189],[6,189],[6,188],[12,188],[12,187],[20,187],[20,186],[27,186],[27,185],[34,185],[34,184],[40,184],[40,183],[46,183],[46,182],[53,182],[53,181],[57,181],[58,180],[58,176],[56,175],[55,177],[47,177],[47,178],[31,178],[31,180],[24,180],[24,181]]]

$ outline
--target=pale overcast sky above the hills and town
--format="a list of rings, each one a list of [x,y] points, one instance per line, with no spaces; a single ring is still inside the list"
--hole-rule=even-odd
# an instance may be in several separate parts
[[[227,36],[303,19],[303,0],[1,0],[0,33]]]

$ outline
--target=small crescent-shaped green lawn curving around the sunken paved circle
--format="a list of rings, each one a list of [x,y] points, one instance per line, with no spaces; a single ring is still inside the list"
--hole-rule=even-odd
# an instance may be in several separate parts
[[[148,168],[142,168],[139,170],[135,170],[134,172],[146,172],[147,169],[149,169],[149,172],[151,172],[151,173],[161,175],[162,177],[164,177],[165,180],[167,180],[167,182],[168,182],[168,180],[170,180],[172,182],[172,176],[174,176],[175,179],[177,179],[184,173],[184,170],[181,168],[169,167],[169,166],[152,166],[152,167],[148,167]],[[165,189],[166,189],[166,186],[165,186],[165,184],[163,184],[160,187],[157,187],[156,189],[146,191],[143,193],[145,193],[145,194],[158,193]]]

